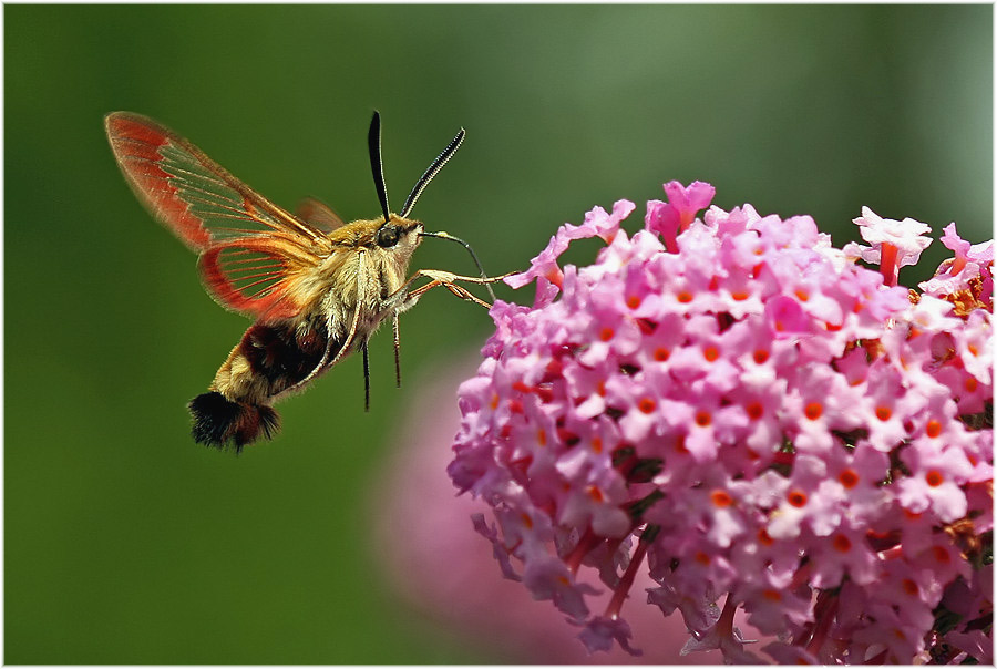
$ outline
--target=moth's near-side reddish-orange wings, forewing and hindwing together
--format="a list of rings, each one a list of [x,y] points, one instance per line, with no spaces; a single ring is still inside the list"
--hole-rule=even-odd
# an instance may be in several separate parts
[[[138,199],[184,244],[225,307],[290,318],[312,292],[302,284],[331,251],[317,228],[285,212],[155,121],[115,112],[107,138]]]

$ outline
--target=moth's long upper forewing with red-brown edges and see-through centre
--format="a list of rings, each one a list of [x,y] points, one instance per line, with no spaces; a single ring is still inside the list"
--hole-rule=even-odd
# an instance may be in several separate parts
[[[104,126],[117,164],[138,199],[193,250],[203,251],[224,239],[273,233],[321,243],[321,231],[152,119],[114,112],[104,119]]]

